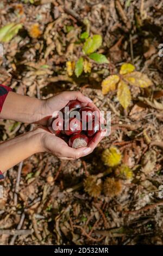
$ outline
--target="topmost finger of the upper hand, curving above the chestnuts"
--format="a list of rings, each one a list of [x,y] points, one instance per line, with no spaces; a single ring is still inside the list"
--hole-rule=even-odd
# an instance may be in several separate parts
[[[76,91],[71,91],[71,92],[64,92],[61,93],[62,96],[64,97],[65,100],[79,100],[83,103],[90,103],[92,102],[91,99],[89,99],[89,97],[84,96],[82,93],[80,92],[76,92]]]

